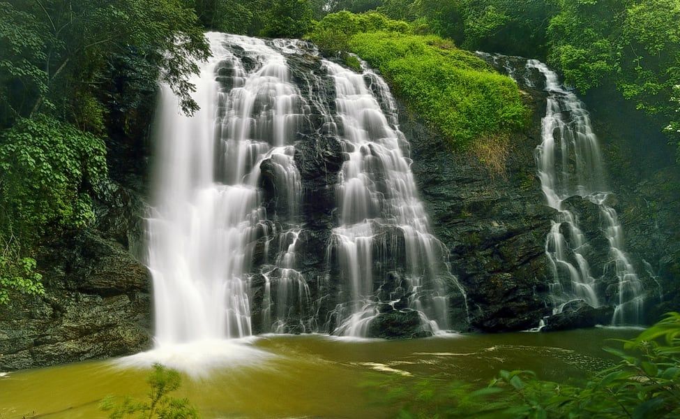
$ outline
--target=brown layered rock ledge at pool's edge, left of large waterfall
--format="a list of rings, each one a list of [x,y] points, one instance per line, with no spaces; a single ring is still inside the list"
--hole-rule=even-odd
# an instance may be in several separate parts
[[[129,355],[150,345],[146,267],[95,230],[46,244],[45,295],[0,307],[0,370]]]

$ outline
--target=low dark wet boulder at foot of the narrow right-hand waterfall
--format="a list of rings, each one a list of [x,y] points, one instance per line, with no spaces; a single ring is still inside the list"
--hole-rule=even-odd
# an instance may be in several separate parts
[[[564,304],[562,312],[545,319],[541,332],[592,328],[595,325],[612,323],[614,307],[591,307],[583,300],[570,301]]]

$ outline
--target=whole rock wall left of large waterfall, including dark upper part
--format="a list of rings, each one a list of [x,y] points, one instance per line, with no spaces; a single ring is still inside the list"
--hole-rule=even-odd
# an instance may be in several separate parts
[[[142,251],[144,144],[112,133],[108,145],[114,181],[100,185],[95,225],[47,237],[36,258],[45,295],[0,305],[0,371],[151,346],[150,276],[133,257]]]

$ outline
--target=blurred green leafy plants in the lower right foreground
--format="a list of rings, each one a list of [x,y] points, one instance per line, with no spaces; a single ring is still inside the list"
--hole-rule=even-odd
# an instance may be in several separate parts
[[[672,418],[680,414],[680,314],[671,313],[583,383],[543,381],[501,371],[488,387],[403,379],[370,383],[401,406],[400,418]]]

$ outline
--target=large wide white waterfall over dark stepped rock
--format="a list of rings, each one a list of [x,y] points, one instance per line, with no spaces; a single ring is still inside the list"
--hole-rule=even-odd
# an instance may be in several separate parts
[[[200,110],[180,115],[167,88],[158,108],[147,219],[157,345],[375,336],[381,316],[421,335],[451,328],[462,289],[384,81],[301,41],[207,36],[212,57],[192,80]]]

